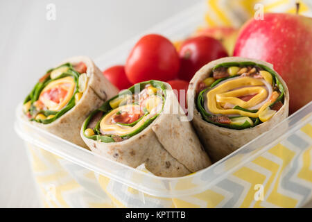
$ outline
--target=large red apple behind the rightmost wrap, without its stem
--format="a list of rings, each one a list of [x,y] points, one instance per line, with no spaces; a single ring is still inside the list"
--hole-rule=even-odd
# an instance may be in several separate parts
[[[290,93],[290,113],[312,100],[312,18],[284,13],[264,14],[246,22],[234,56],[270,62]]]

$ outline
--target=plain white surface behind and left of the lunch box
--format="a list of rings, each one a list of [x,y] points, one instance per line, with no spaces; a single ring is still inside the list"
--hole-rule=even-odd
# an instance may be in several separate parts
[[[38,76],[69,56],[98,58],[197,1],[0,1],[0,207],[40,207],[12,127],[17,103]],[[56,6],[55,21],[46,20],[48,3]]]

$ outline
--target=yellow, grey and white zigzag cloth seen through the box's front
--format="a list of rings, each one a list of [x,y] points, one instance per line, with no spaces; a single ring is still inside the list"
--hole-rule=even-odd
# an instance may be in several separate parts
[[[41,148],[29,150],[45,207],[302,207],[312,200],[312,122],[213,187],[183,198],[150,196]],[[258,184],[263,200],[254,198]]]

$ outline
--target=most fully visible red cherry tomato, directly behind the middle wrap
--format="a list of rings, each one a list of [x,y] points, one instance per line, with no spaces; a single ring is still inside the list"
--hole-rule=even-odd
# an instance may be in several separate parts
[[[125,74],[131,83],[166,81],[177,77],[179,67],[175,46],[162,35],[150,34],[135,44],[125,64]]]

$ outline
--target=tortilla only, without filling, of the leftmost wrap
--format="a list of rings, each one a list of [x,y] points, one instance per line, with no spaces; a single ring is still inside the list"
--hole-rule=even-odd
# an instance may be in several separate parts
[[[119,90],[103,76],[100,69],[94,65],[94,62],[90,58],[76,56],[64,60],[59,65],[67,62],[70,62],[72,65],[78,64],[78,62],[84,62],[87,66],[88,83],[83,97],[71,110],[52,123],[42,124],[35,121],[31,121],[31,123],[44,128],[44,130],[58,137],[67,139],[73,144],[87,148],[85,142],[80,137],[80,128],[83,125],[83,121],[85,121],[92,110],[98,108],[104,101],[117,94]]]

